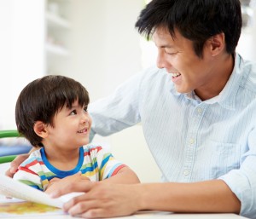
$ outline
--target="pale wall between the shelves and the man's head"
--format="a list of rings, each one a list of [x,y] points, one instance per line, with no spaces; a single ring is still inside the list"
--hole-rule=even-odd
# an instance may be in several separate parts
[[[140,38],[134,24],[143,0],[74,2],[72,75],[89,89],[94,101],[141,70]]]

